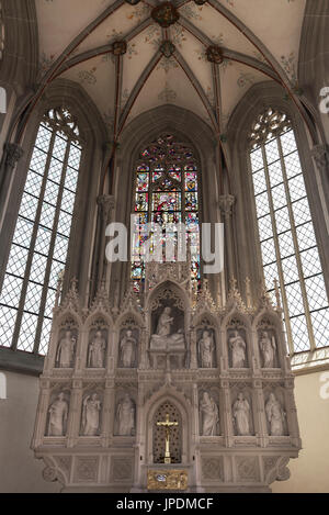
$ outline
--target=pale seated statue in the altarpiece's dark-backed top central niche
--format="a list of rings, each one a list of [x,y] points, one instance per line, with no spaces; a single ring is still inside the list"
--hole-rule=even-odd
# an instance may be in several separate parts
[[[184,331],[180,328],[178,333],[171,334],[173,322],[174,317],[171,315],[171,307],[164,307],[159,317],[157,334],[151,336],[151,349],[173,350],[185,348]]]

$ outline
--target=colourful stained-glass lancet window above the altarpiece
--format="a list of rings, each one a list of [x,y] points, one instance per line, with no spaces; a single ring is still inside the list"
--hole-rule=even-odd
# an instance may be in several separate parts
[[[136,292],[145,279],[145,244],[149,235],[144,233],[146,224],[161,228],[166,261],[166,248],[172,245],[178,259],[179,224],[185,224],[188,253],[191,249],[191,277],[195,288],[200,281],[200,227],[198,227],[198,166],[191,148],[163,135],[143,149],[136,166],[135,177],[135,229],[132,250],[132,279]],[[159,231],[160,232],[160,231]],[[159,233],[158,233],[159,234]],[[182,234],[182,233],[180,233]],[[154,251],[150,243],[150,251]],[[157,255],[158,259],[158,255]]]

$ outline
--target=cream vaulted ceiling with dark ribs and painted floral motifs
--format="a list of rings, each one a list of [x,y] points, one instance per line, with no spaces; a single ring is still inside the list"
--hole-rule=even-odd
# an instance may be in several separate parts
[[[171,103],[219,135],[248,89],[294,94],[306,0],[36,0],[39,87],[79,82],[118,138]]]

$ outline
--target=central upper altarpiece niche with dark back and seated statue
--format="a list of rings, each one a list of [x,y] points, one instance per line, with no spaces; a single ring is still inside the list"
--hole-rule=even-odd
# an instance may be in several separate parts
[[[149,351],[152,368],[183,368],[186,352],[184,312],[177,299],[166,299],[151,314]]]

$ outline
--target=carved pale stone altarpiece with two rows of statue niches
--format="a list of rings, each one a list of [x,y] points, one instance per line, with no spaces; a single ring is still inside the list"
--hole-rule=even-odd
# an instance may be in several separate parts
[[[281,310],[234,280],[225,305],[207,281],[195,298],[186,264],[148,265],[141,303],[128,291],[120,310],[104,286],[83,309],[73,282],[32,447],[65,492],[270,492],[300,449]]]

